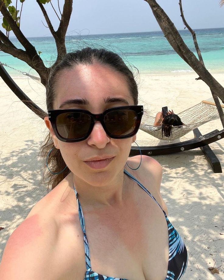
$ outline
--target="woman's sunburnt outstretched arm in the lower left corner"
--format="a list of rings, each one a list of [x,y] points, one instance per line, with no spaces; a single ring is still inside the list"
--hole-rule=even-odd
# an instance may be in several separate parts
[[[9,237],[0,265],[1,280],[55,280],[49,266],[57,239],[52,220],[30,215]]]

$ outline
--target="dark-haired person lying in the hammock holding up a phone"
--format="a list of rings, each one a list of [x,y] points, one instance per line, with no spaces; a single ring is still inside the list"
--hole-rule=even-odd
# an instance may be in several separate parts
[[[165,137],[172,137],[172,127],[181,127],[184,123],[181,121],[180,117],[173,113],[173,110],[167,111],[166,116],[163,118],[163,112],[158,112],[156,114],[154,126],[162,126],[162,137],[163,133]]]

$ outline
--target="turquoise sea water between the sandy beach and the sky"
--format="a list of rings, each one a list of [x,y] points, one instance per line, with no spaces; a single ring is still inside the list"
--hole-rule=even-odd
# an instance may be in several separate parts
[[[188,47],[196,54],[191,33],[179,31]],[[201,53],[207,69],[212,73],[224,72],[224,28],[195,30]],[[41,51],[45,65],[50,66],[56,59],[53,37],[32,37],[29,41]],[[22,48],[17,39],[12,39],[16,47]],[[120,54],[124,60],[137,67],[141,73],[174,74],[190,73],[193,70],[172,49],[161,31],[141,33],[117,33],[66,37],[67,51],[81,47],[105,47]],[[0,52],[0,61],[21,71],[29,72],[30,67],[17,58]],[[7,68],[18,76],[19,73]],[[33,72],[32,72],[33,73]]]

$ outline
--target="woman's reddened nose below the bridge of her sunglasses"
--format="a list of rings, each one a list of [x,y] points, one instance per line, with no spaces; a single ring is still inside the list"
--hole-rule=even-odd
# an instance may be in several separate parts
[[[96,121],[93,126],[92,132],[87,138],[88,145],[90,146],[94,145],[98,149],[103,149],[109,142],[110,142],[110,137],[107,136],[107,133],[103,129],[102,124],[100,123],[100,121]]]

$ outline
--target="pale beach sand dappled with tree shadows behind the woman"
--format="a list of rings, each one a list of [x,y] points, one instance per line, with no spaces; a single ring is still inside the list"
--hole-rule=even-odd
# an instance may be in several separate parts
[[[214,74],[224,85],[224,75]],[[208,86],[195,81],[196,74],[141,75],[139,104],[155,115],[162,106],[175,113],[211,97]],[[27,77],[14,78],[21,89],[45,108],[44,88]],[[33,114],[0,79],[1,173],[0,173],[0,259],[13,230],[46,193],[41,181],[42,161],[38,156],[46,135],[44,122]],[[220,120],[200,127],[202,133],[222,129]],[[193,133],[187,135],[192,138]],[[137,142],[154,139],[139,131]],[[224,170],[224,139],[211,148]],[[163,167],[161,193],[169,219],[184,239],[189,263],[183,279],[224,279],[224,186],[223,174],[213,173],[200,149],[166,156],[154,156]],[[208,267],[219,267],[212,275]]]

